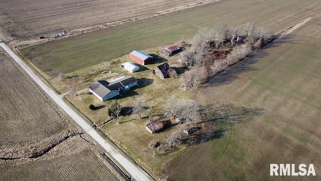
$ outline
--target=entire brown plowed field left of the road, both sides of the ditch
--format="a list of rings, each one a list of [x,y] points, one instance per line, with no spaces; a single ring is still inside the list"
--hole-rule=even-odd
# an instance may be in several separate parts
[[[128,179],[1,48],[0,82],[0,180]]]

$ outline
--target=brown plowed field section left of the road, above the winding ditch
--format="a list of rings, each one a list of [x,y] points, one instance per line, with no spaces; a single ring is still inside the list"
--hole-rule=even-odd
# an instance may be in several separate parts
[[[0,65],[0,145],[41,140],[71,128],[70,119],[3,52]]]

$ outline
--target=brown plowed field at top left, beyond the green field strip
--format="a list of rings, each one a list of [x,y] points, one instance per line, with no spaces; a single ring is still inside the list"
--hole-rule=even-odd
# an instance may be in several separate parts
[[[149,17],[157,15],[156,12],[161,14],[206,2],[211,1],[5,1],[0,6],[0,27],[13,38],[39,37],[84,27],[98,28],[108,22]]]

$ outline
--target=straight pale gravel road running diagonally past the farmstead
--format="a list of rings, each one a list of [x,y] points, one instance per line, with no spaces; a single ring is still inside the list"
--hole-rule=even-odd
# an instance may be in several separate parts
[[[135,180],[153,180],[144,170],[133,164],[127,158],[119,153],[119,150],[109,144],[98,132],[83,120],[74,110],[72,110],[56,92],[46,85],[12,49],[4,42],[0,41],[0,46],[27,72],[27,74],[43,89],[43,91],[59,106],[67,115],[69,115],[86,133],[97,141]]]

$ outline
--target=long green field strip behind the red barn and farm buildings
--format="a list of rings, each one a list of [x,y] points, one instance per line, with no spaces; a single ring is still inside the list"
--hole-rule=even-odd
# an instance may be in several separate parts
[[[239,26],[254,21],[277,32],[315,15],[318,3],[317,0],[220,1],[28,47],[21,52],[46,74],[55,77],[59,72],[72,72],[135,49],[191,39],[202,27]]]

